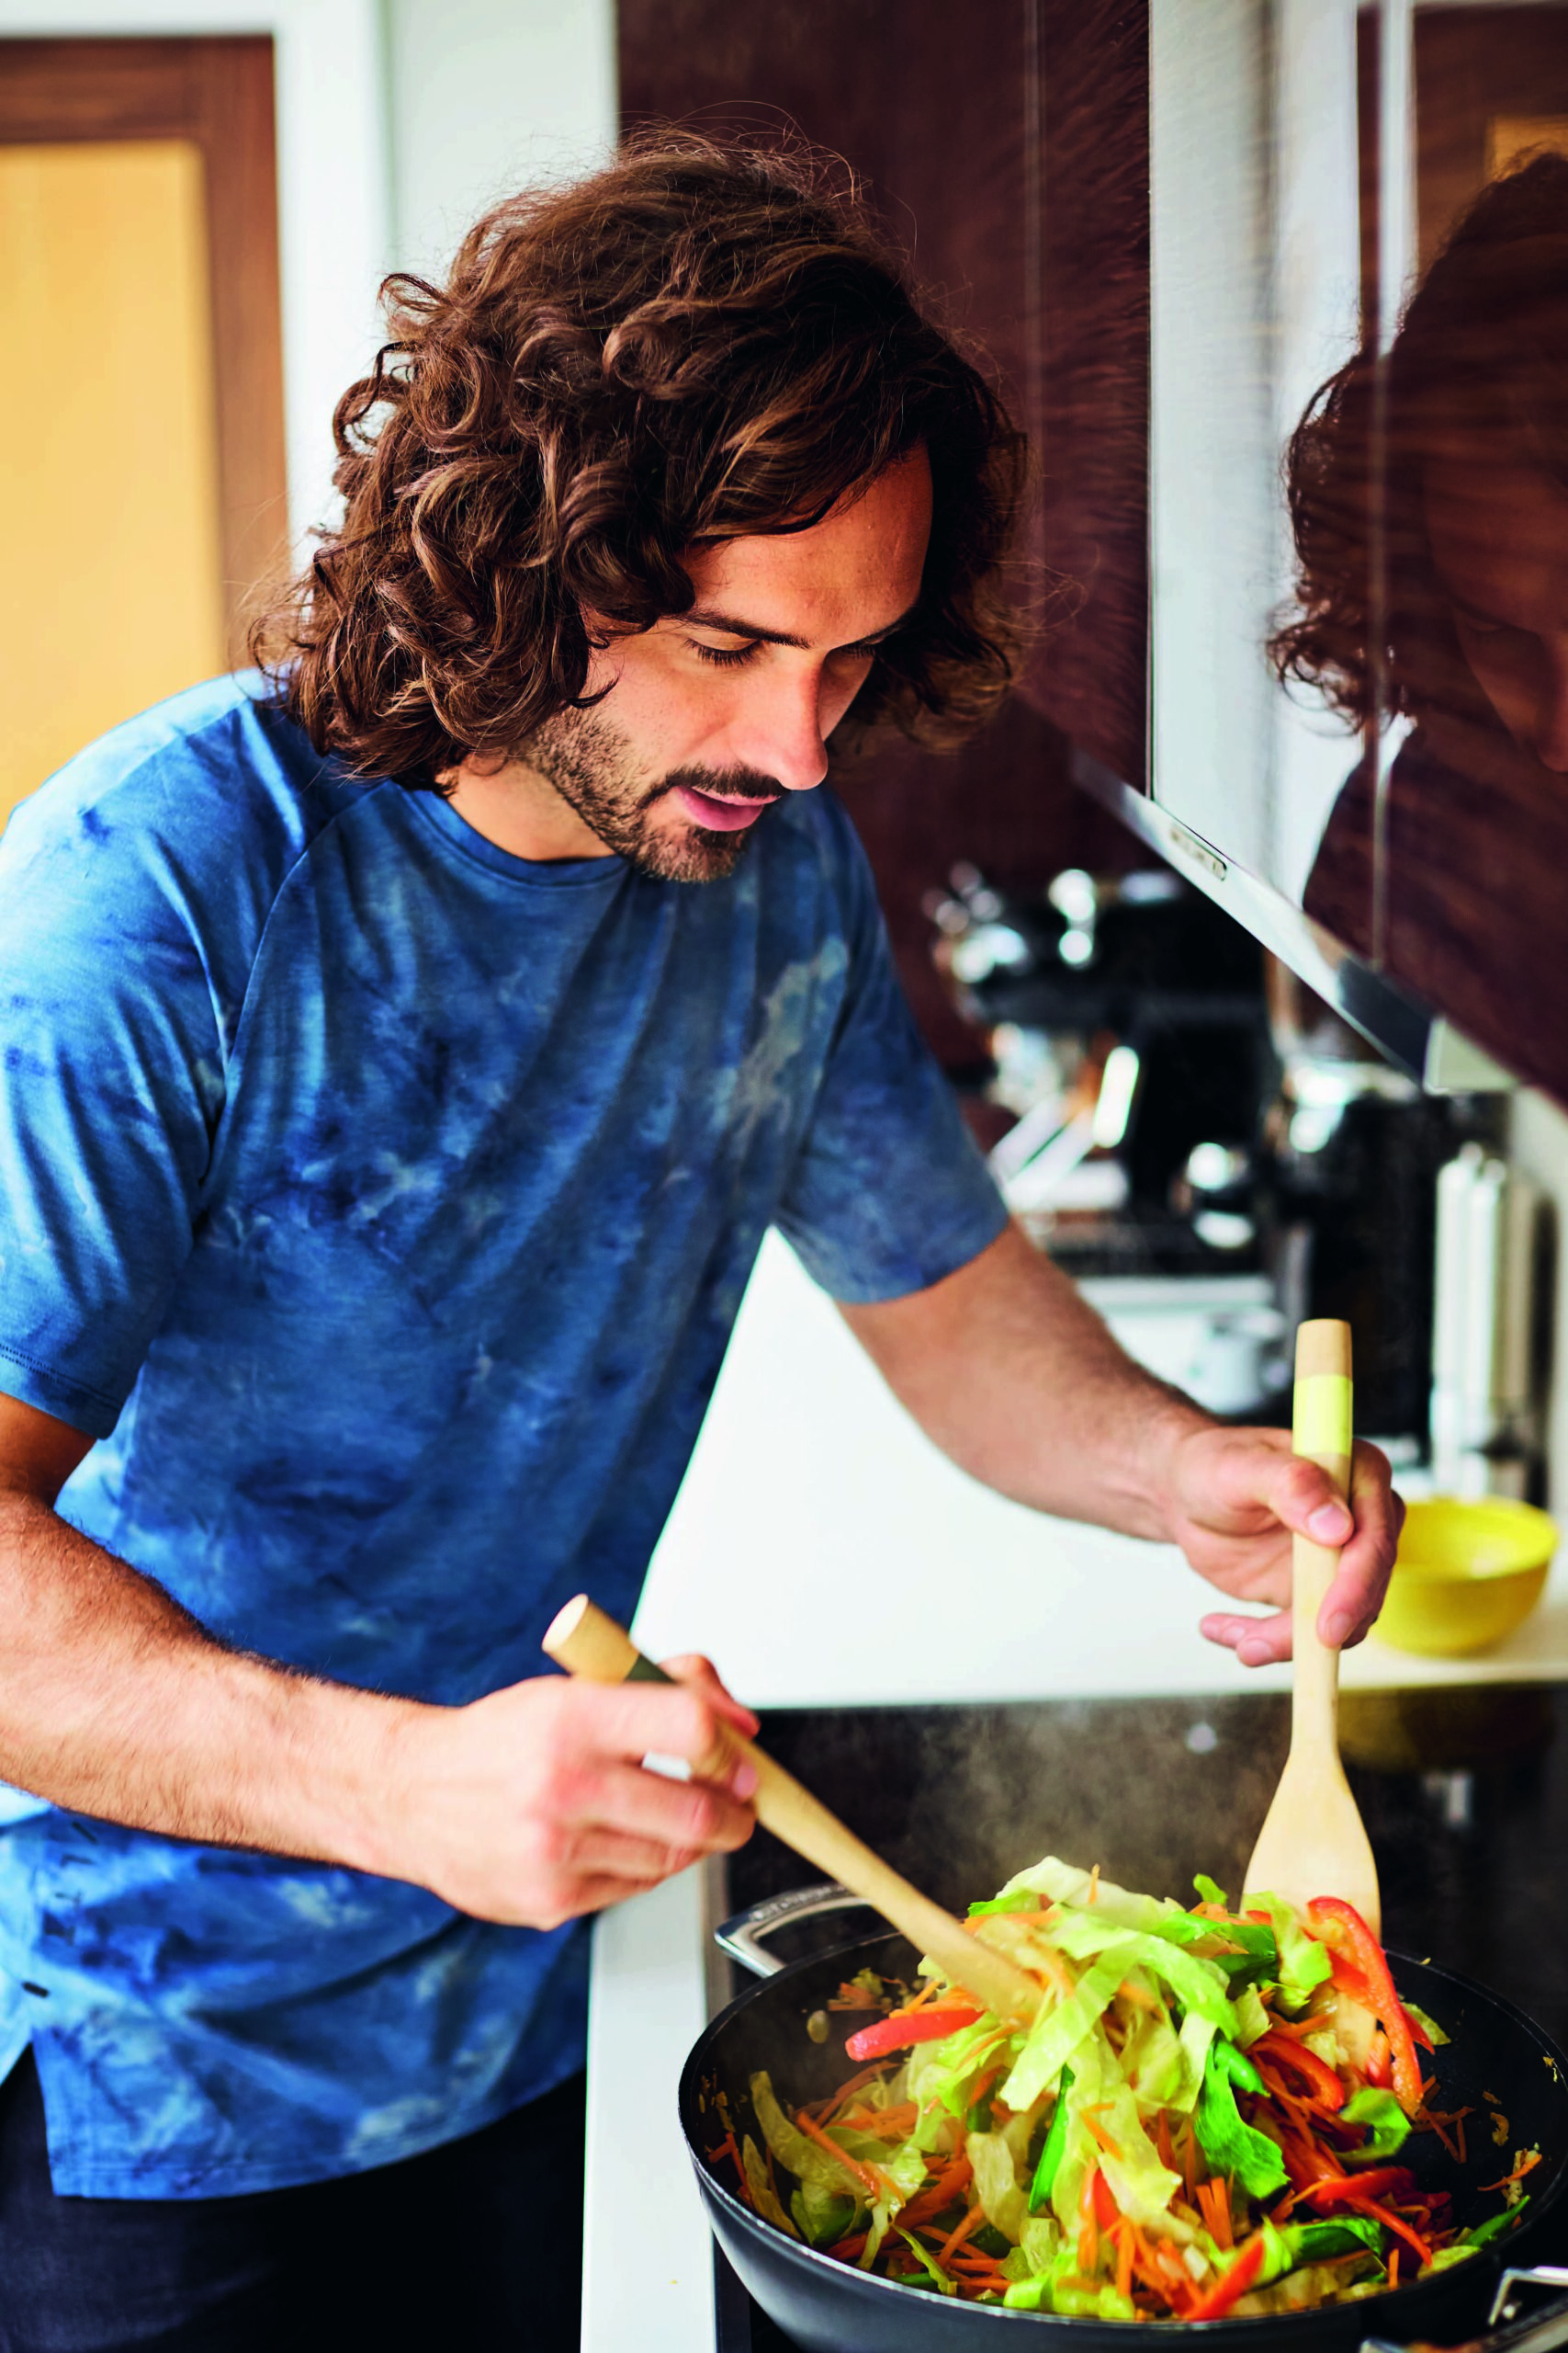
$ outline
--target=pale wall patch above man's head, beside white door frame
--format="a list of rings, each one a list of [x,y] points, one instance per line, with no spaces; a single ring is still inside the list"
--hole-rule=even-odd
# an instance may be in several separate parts
[[[383,0],[393,242],[440,271],[501,195],[616,139],[614,0]]]

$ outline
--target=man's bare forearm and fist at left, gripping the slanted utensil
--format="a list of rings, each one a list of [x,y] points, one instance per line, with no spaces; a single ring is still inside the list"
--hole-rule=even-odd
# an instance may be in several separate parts
[[[71,1459],[80,1445],[56,1471]],[[722,1725],[757,1720],[703,1659],[675,1661],[672,1687],[534,1675],[463,1706],[357,1692],[226,1649],[5,1475],[0,1779],[68,1812],[411,1880],[517,1927],[616,1904],[752,1828],[755,1774],[710,1760]],[[649,1753],[705,1779],[644,1772]]]

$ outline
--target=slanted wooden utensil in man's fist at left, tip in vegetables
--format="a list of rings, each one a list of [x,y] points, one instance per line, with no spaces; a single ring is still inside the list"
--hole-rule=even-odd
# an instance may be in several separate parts
[[[578,1593],[550,1621],[543,1647],[557,1666],[564,1666],[571,1675],[583,1675],[588,1682],[672,1680],[661,1666],[644,1659],[625,1628],[597,1609],[585,1593]],[[788,1847],[804,1854],[818,1871],[827,1871],[830,1878],[842,1880],[851,1894],[865,1897],[884,1920],[891,1920],[910,1939],[917,1953],[929,1953],[943,1974],[971,1993],[983,2009],[994,2009],[997,2017],[1023,2024],[1034,2017],[1039,2009],[1039,1986],[1032,1977],[1016,1967],[1006,1953],[997,1953],[971,1937],[952,1913],[945,1913],[931,1897],[922,1897],[919,1887],[910,1887],[879,1854],[860,1845],[837,1814],[830,1814],[811,1791],[802,1788],[783,1765],[776,1765],[752,1741],[726,1729],[719,1737],[717,1751],[703,1758],[693,1772],[698,1777],[715,1774],[719,1767],[733,1762],[736,1755],[750,1758],[757,1769],[757,1821],[773,1838],[783,1838]]]

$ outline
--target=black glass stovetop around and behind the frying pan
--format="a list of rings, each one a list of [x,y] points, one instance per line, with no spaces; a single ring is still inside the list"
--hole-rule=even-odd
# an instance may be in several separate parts
[[[875,1640],[870,1631],[858,1635]],[[1023,1706],[780,1711],[762,1746],[907,1878],[961,1913],[1041,1854],[1192,1901],[1239,1892],[1279,1781],[1291,1704],[1067,1699]],[[1349,1784],[1382,1880],[1389,1946],[1505,1993],[1568,2045],[1568,1685],[1356,1692],[1340,1704]],[[729,1908],[816,1873],[757,1831],[729,1859]],[[853,1932],[776,1939],[785,1960]],[[738,1993],[750,1979],[733,1972]],[[1568,2261],[1566,2247],[1533,2249]],[[719,2266],[719,2353],[788,2339]]]

